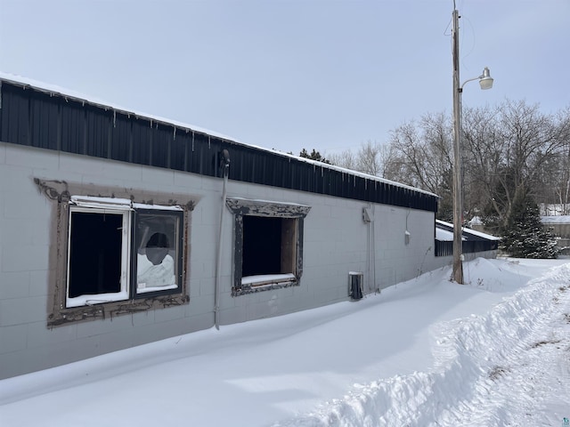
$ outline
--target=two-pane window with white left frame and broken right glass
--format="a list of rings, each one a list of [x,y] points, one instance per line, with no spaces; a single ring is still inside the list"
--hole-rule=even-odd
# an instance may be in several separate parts
[[[181,292],[179,206],[133,209],[122,200],[84,198],[72,197],[69,206],[66,307]]]

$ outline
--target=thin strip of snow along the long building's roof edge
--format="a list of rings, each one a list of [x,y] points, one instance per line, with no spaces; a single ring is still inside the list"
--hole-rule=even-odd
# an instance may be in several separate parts
[[[327,169],[336,170],[338,172],[347,173],[347,174],[354,175],[354,176],[360,176],[362,178],[365,178],[365,179],[368,179],[371,181],[383,182],[383,183],[387,183],[390,185],[394,185],[396,187],[400,187],[403,189],[410,189],[412,191],[416,191],[419,193],[423,193],[423,194],[427,194],[429,196],[434,196],[434,197],[439,198],[439,196],[437,196],[436,194],[434,194],[430,191],[427,191],[425,189],[417,189],[415,187],[411,187],[409,185],[402,184],[400,182],[386,180],[384,178],[379,178],[378,176],[374,176],[374,175],[371,175],[368,173],[353,171],[351,169],[346,169],[344,167],[339,167],[337,165],[329,165],[326,163],[318,162],[316,160],[312,160],[310,158],[298,157],[298,156],[295,156],[295,155],[292,155],[289,153],[279,151],[277,149],[267,149],[265,147],[260,147],[260,146],[253,145],[253,144],[247,144],[245,142],[239,141],[239,140],[232,138],[230,136],[226,136],[222,133],[216,133],[214,131],[210,131],[208,129],[201,128],[199,126],[188,125],[188,124],[185,124],[183,122],[178,122],[176,120],[171,120],[171,119],[164,118],[164,117],[159,117],[159,116],[154,116],[154,115],[147,114],[147,113],[142,113],[142,112],[136,111],[134,109],[126,109],[124,107],[120,107],[116,104],[113,104],[112,102],[102,101],[100,99],[95,98],[94,96],[85,95],[84,93],[78,93],[78,92],[75,92],[75,91],[72,91],[72,90],[69,90],[66,88],[62,88],[61,86],[58,86],[58,85],[50,85],[50,84],[39,82],[37,80],[31,79],[28,77],[16,76],[16,75],[12,75],[9,73],[4,73],[2,71],[0,71],[0,80],[4,80],[6,82],[12,83],[13,85],[30,86],[30,87],[33,87],[34,89],[37,89],[38,91],[41,91],[41,92],[59,95],[63,98],[71,98],[71,99],[74,99],[76,101],[86,102],[86,103],[95,105],[97,107],[103,108],[103,109],[114,109],[118,112],[121,112],[121,113],[124,113],[127,115],[144,117],[144,118],[148,118],[148,119],[151,119],[151,120],[159,122],[159,123],[163,123],[163,124],[167,124],[167,125],[174,125],[176,127],[181,127],[184,129],[190,129],[192,131],[199,132],[199,133],[206,133],[206,134],[214,136],[216,138],[220,138],[220,139],[225,140],[225,141],[231,141],[233,143],[240,144],[243,146],[247,146],[247,147],[250,147],[253,149],[260,149],[260,150],[271,152],[275,155],[279,155],[279,156],[283,156],[283,157],[295,158],[296,160],[299,160],[299,161],[302,161],[305,163],[309,163],[309,164],[312,164],[315,166],[321,166],[321,167],[324,167]]]

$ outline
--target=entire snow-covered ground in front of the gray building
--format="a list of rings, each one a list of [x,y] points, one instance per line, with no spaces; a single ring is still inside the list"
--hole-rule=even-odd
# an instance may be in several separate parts
[[[0,425],[564,425],[570,262],[464,269],[0,381]]]

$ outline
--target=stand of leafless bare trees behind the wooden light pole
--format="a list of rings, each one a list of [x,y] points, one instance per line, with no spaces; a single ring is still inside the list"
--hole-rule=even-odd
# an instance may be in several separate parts
[[[462,131],[466,218],[483,216],[500,232],[521,187],[570,214],[570,107],[554,116],[525,101],[467,108]],[[399,125],[385,145],[366,141],[329,159],[436,193],[438,216],[452,220],[452,119],[444,113]]]

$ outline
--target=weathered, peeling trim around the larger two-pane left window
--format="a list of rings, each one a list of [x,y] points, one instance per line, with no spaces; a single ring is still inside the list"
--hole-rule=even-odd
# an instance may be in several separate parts
[[[188,260],[190,256],[190,223],[197,198],[191,199],[187,195],[165,194],[159,198],[156,192],[142,189],[117,189],[97,186],[94,184],[69,183],[66,181],[44,181],[34,178],[38,189],[50,200],[53,208],[55,227],[52,230],[50,246],[50,260],[55,268],[50,270],[48,286],[47,326],[62,326],[70,323],[94,320],[98,318],[113,318],[139,311],[159,310],[187,304],[190,301],[188,288]],[[161,293],[156,295],[142,294],[137,298],[117,302],[104,302],[92,306],[65,308],[67,291],[67,253],[69,239],[69,202],[70,194],[95,194],[106,199],[120,197],[132,201],[133,206],[156,206],[162,210],[182,209],[182,279],[179,292],[175,294]],[[183,202],[181,202],[183,201]],[[141,205],[137,205],[141,204]],[[164,204],[164,205],[163,205]],[[178,207],[179,206],[179,207]]]

